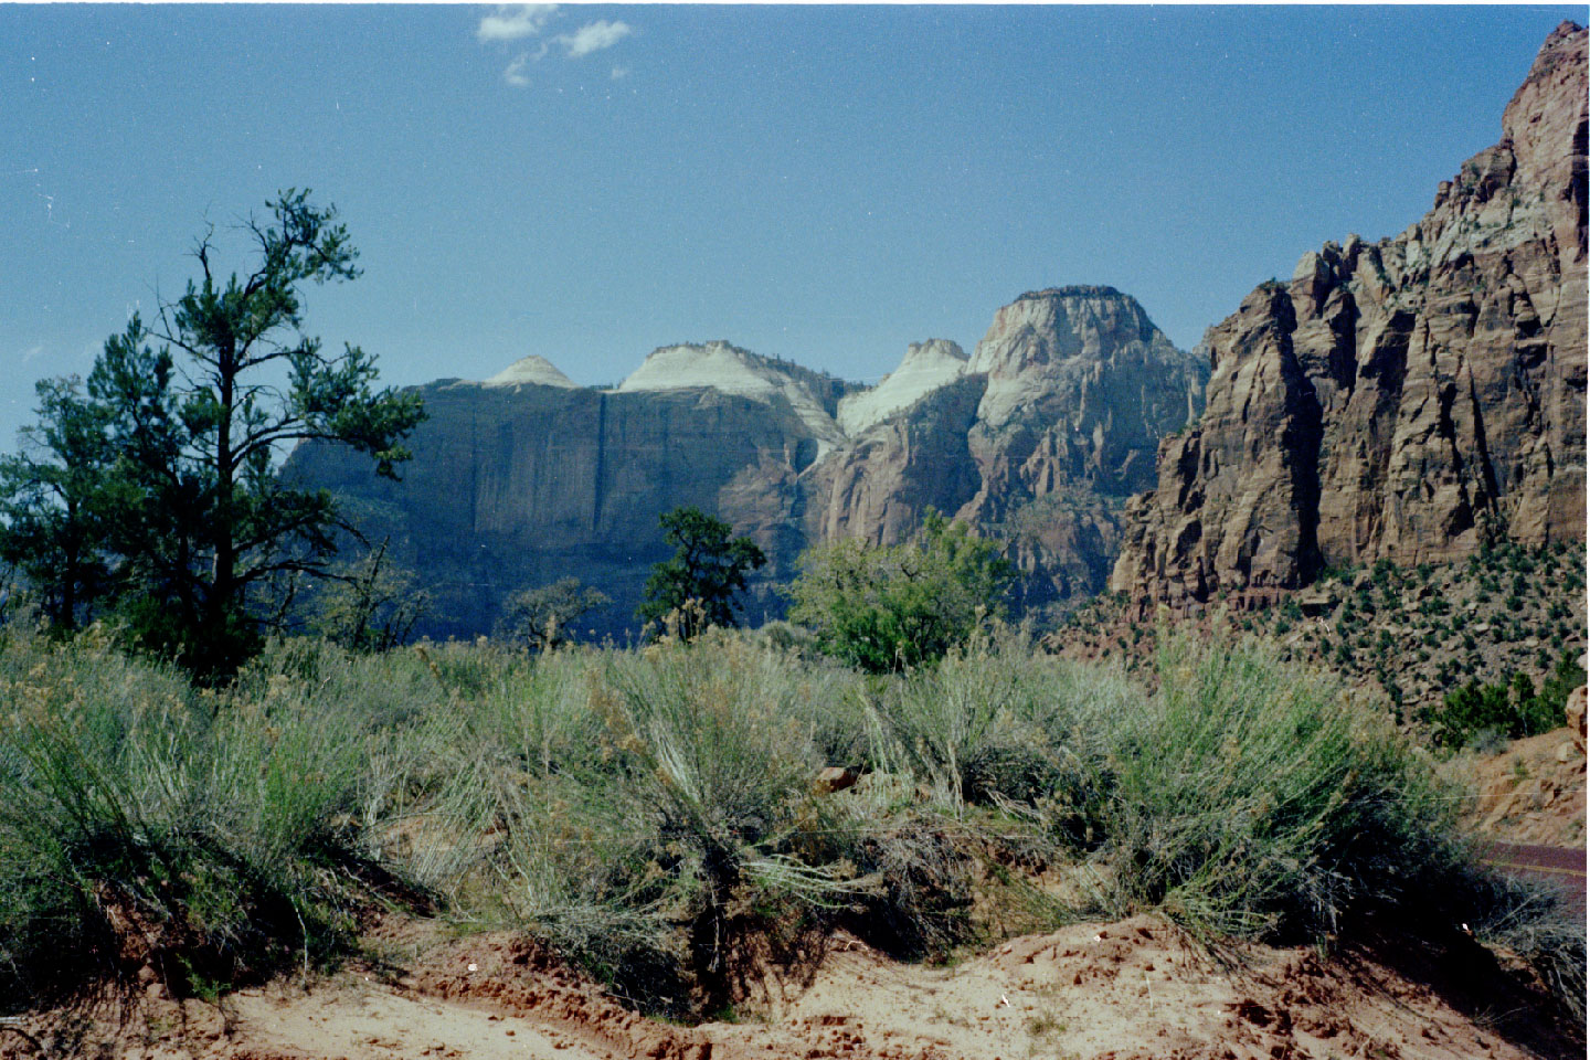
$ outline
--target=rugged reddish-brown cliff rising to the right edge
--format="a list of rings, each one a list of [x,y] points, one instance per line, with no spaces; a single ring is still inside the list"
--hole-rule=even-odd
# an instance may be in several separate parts
[[[1503,140],[1394,238],[1326,243],[1210,329],[1199,423],[1159,448],[1110,586],[1262,599],[1326,566],[1585,536],[1585,30],[1545,41]]]

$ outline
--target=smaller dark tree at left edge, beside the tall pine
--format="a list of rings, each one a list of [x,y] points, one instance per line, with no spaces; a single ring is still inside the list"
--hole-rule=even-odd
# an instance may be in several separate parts
[[[72,631],[110,586],[103,410],[81,380],[35,385],[40,423],[0,458],[0,561],[17,569],[51,623]]]

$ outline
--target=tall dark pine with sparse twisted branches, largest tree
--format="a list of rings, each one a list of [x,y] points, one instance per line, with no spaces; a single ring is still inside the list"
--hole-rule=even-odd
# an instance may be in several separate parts
[[[200,277],[151,324],[134,316],[113,335],[87,381],[108,450],[99,553],[119,575],[118,610],[142,644],[218,677],[258,644],[251,594],[285,574],[326,575],[335,553],[331,494],[283,482],[277,458],[340,442],[396,477],[425,416],[417,394],[375,389],[372,356],[329,354],[304,334],[304,286],[359,275],[335,210],[296,191],[269,210],[243,224],[250,272],[223,278],[210,229],[192,251]],[[64,423],[46,410],[38,431]]]

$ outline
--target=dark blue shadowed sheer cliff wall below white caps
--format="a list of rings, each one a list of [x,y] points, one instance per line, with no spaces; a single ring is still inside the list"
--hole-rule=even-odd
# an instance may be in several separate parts
[[[420,393],[431,418],[402,482],[328,445],[299,448],[285,474],[337,493],[367,536],[393,537],[437,594],[432,636],[488,633],[507,593],[571,574],[614,598],[591,628],[620,633],[669,555],[657,516],[682,504],[725,512],[793,558],[795,480],[817,442],[779,397],[458,381]]]

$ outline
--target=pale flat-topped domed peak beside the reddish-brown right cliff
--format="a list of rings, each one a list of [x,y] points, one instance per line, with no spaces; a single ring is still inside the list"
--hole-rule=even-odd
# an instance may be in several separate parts
[[[932,505],[1010,542],[1032,575],[1024,604],[1097,593],[1118,509],[1151,483],[1159,439],[1197,415],[1205,361],[1177,350],[1135,299],[1100,286],[1022,294],[964,366],[959,348],[929,346],[841,404],[844,423],[865,402],[884,405],[908,370],[951,377],[822,469],[814,536],[892,544]]]

